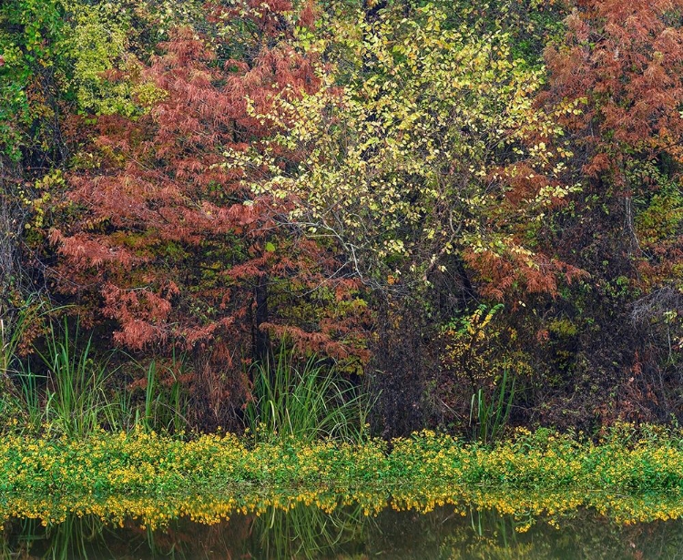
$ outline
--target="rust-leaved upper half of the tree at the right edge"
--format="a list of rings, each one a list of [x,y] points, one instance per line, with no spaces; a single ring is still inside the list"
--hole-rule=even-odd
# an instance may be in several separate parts
[[[582,212],[595,214],[595,202],[592,208],[587,203],[592,195],[611,217],[584,219],[581,228],[567,232],[563,245],[581,249],[593,236],[596,246],[594,234],[601,231],[603,240],[612,238],[607,245],[621,256],[622,269],[630,266],[627,260],[639,260],[647,290],[670,279],[681,258],[680,239],[668,218],[672,200],[658,193],[679,182],[683,162],[683,2],[576,4],[566,40],[545,51],[550,87],[541,101],[581,102],[580,113],[559,118],[580,150],[575,172],[586,178]],[[638,230],[637,213],[647,205],[658,205],[659,227],[668,235],[652,234],[658,229],[653,219],[644,219],[645,228]],[[616,275],[624,273],[618,269]]]

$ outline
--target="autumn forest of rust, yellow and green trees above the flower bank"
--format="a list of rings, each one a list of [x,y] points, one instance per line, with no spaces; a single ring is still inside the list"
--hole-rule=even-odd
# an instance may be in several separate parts
[[[0,424],[678,426],[681,171],[683,0],[4,0]]]

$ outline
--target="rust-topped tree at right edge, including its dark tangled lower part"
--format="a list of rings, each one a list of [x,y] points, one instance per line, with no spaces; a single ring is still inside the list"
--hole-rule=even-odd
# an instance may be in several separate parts
[[[583,189],[542,233],[558,258],[591,274],[568,295],[580,331],[575,376],[592,385],[579,393],[611,392],[633,418],[681,413],[682,9],[579,0],[566,37],[545,52],[540,101],[583,107],[559,120],[576,151],[567,172]]]

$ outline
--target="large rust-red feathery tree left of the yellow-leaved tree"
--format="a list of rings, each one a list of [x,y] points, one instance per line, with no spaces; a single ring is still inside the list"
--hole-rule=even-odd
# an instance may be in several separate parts
[[[268,113],[275,96],[317,87],[311,60],[281,40],[291,5],[207,9],[217,20],[235,10],[250,18],[259,39],[250,37],[249,59],[219,59],[228,46],[186,28],[138,65],[151,107],[97,118],[86,148],[97,165],[70,178],[76,219],[51,231],[60,257],[52,277],[63,293],[97,294],[90,311],[114,320],[114,339],[128,349],[194,351],[198,391],[220,423],[243,398],[243,362],[263,351],[266,331],[304,351],[366,355],[349,326],[362,311],[355,283],[329,280],[327,249],[280,231],[269,199],[253,199],[243,172],[219,165],[226,148],[266,145],[269,123],[252,115]],[[282,165],[297,158],[282,154]],[[292,298],[315,308],[320,286],[336,288],[330,309],[280,312]]]

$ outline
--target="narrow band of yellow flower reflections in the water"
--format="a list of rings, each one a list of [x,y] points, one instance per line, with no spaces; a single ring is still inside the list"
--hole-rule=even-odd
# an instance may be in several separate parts
[[[433,511],[436,506],[453,506],[456,514],[466,515],[468,508],[495,510],[499,514],[511,515],[517,520],[515,531],[524,533],[535,519],[544,517],[548,524],[559,528],[565,515],[571,515],[577,507],[592,507],[599,514],[609,514],[618,524],[633,524],[639,521],[667,520],[680,517],[683,508],[671,498],[615,496],[614,494],[585,494],[583,491],[569,491],[545,494],[543,492],[501,492],[484,489],[456,488],[449,494],[446,489],[429,489],[427,495],[418,498],[405,490],[397,491],[388,503],[387,494],[372,489],[344,498],[323,490],[289,491],[264,495],[253,490],[237,496],[171,495],[160,500],[157,496],[93,496],[77,497],[33,497],[30,499],[10,497],[3,504],[3,520],[10,517],[39,519],[44,525],[63,523],[68,514],[78,517],[93,515],[101,521],[115,526],[124,526],[127,520],[137,521],[143,528],[157,528],[173,519],[186,517],[200,524],[217,524],[234,514],[261,515],[275,508],[290,511],[303,504],[313,505],[324,513],[331,514],[339,506],[358,504],[365,515],[376,515],[383,508],[420,513]]]

